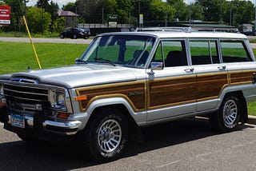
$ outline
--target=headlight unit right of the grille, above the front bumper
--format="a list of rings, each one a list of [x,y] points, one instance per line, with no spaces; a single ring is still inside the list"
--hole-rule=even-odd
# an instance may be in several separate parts
[[[66,110],[66,98],[69,93],[66,89],[50,89],[50,104],[54,109]]]

